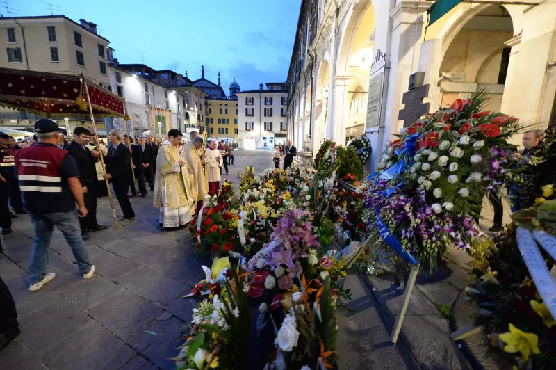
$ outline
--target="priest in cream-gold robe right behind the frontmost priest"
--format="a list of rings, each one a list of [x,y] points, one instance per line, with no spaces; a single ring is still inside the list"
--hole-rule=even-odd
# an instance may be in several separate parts
[[[208,182],[203,169],[206,152],[202,154],[202,156],[199,156],[199,150],[203,147],[203,142],[202,136],[195,136],[195,138],[187,143],[186,147],[183,147],[183,159],[185,159],[187,163],[193,199],[197,202],[195,213],[201,209],[203,198],[206,193],[208,193]]]

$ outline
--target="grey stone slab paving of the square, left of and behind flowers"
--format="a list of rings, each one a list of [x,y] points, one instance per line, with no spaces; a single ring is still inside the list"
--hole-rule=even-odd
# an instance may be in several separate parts
[[[259,172],[272,166],[272,152],[234,151],[229,176],[238,185],[245,166]],[[136,219],[115,230],[108,198],[99,198],[100,223],[108,230],[85,243],[95,277],[77,273],[70,247],[56,230],[49,250],[49,272],[56,278],[40,291],[28,291],[33,225],[19,216],[3,237],[0,275],[12,292],[22,334],[0,352],[0,369],[175,369],[168,358],[179,353],[183,329],[195,299],[182,298],[202,279],[187,228],[158,229],[158,210],[147,198],[131,198]],[[121,215],[115,205],[116,214]]]

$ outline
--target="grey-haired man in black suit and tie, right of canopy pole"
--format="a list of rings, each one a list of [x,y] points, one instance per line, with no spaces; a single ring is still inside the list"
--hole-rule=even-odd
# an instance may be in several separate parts
[[[127,197],[127,189],[131,184],[131,154],[129,147],[122,143],[122,131],[110,130],[108,140],[112,143],[112,147],[108,150],[106,156],[106,175],[105,179],[112,179],[112,187],[116,194],[117,202],[122,207],[124,217],[120,218],[122,225],[127,226],[131,220],[135,218],[135,212],[131,207],[129,198]]]

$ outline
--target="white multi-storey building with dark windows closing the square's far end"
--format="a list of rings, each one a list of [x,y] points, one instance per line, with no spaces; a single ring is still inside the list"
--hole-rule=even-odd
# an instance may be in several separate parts
[[[240,149],[273,149],[286,142],[288,92],[285,83],[261,83],[259,90],[240,91],[238,145]]]

